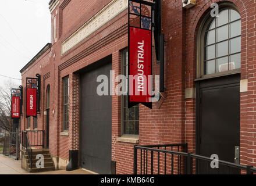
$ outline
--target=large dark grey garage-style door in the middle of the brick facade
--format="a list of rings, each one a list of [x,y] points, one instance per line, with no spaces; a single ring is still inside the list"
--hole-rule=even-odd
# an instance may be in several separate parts
[[[97,77],[109,80],[111,63],[81,75],[80,165],[99,174],[111,174],[111,96],[97,94]]]

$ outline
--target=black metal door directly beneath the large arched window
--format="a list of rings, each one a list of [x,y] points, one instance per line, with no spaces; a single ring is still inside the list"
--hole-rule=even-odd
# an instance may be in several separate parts
[[[198,152],[234,163],[234,148],[240,146],[240,74],[201,81],[198,91]],[[239,173],[221,165],[212,169],[201,161],[198,167],[200,174]]]

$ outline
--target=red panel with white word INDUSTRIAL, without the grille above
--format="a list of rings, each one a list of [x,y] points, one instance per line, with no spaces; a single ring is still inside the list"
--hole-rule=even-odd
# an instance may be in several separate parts
[[[130,102],[151,102],[151,30],[130,27]]]

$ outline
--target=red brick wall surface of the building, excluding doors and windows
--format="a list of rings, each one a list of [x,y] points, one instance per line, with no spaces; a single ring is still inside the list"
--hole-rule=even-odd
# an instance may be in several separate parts
[[[45,109],[45,92],[51,85],[50,110],[50,152],[55,156],[68,159],[69,149],[79,149],[79,76],[75,71],[112,55],[112,70],[116,75],[121,72],[121,52],[127,47],[127,11],[121,13],[105,26],[80,42],[70,51],[61,55],[61,43],[86,23],[110,1],[67,1],[63,0],[56,9],[58,41],[41,56],[27,72],[25,78],[41,73],[42,110]],[[162,32],[165,34],[165,87],[167,98],[161,109],[153,103],[153,109],[140,106],[140,144],[176,144],[187,142],[189,152],[195,153],[195,99],[184,99],[185,88],[195,87],[197,62],[197,31],[205,12],[217,0],[198,0],[191,9],[182,8],[182,1],[163,1]],[[256,165],[256,105],[255,85],[255,2],[232,0],[239,8],[242,22],[241,42],[241,79],[248,78],[248,92],[241,94],[241,163]],[[64,4],[65,3],[65,4]],[[65,6],[64,6],[65,5]],[[62,9],[60,9],[61,7]],[[55,11],[53,12],[55,13]],[[61,31],[60,31],[61,30]],[[39,66],[43,67],[40,70]],[[154,74],[159,74],[159,65],[153,62]],[[50,73],[49,77],[46,76]],[[70,77],[70,131],[69,136],[60,135],[62,131],[62,78]],[[121,135],[121,99],[112,97],[112,160],[116,161],[118,174],[133,173],[133,145],[118,142]],[[52,110],[55,110],[52,115]],[[45,117],[38,116],[38,129],[45,128]],[[24,129],[22,117],[22,129]]]

